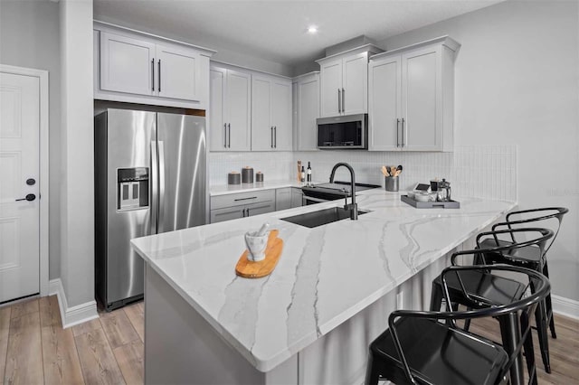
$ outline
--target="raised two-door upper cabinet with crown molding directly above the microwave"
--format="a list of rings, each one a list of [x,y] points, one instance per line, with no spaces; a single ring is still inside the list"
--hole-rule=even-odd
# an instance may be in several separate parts
[[[321,117],[368,111],[368,57],[381,51],[367,44],[317,61],[320,68]]]

